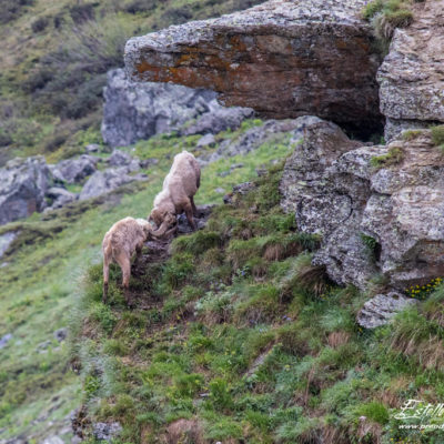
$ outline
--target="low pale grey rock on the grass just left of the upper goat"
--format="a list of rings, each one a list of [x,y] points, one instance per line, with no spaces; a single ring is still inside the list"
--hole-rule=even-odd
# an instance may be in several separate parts
[[[121,185],[134,181],[144,181],[148,179],[145,174],[129,175],[130,170],[127,167],[110,168],[104,171],[95,171],[88,179],[80,192],[79,200],[97,198],[101,194],[109,193]]]

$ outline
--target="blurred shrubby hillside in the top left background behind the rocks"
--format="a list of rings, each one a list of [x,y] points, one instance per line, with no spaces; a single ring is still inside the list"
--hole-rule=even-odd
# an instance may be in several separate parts
[[[105,72],[130,37],[249,8],[261,0],[3,0],[0,164],[69,157],[100,140]]]

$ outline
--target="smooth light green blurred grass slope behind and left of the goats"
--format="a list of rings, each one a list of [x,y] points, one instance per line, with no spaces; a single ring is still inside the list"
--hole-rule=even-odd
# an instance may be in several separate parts
[[[222,133],[219,139],[236,138],[254,124],[260,121],[245,122],[241,130]],[[14,335],[9,345],[0,350],[0,430],[7,428],[0,438],[23,431],[46,432],[46,421],[32,425],[30,422],[41,416],[42,410],[60,403],[54,396],[60,395],[63,404],[51,412],[49,420],[60,420],[78,406],[79,379],[69,370],[67,345],[58,349],[53,341],[48,353],[39,353],[36,347],[52,340],[52,332],[71,319],[81,276],[88,264],[100,260],[100,243],[108,228],[129,214],[147,216],[173,154],[183,148],[193,150],[195,141],[196,137],[161,137],[140,142],[138,153],[142,158],[158,158],[160,163],[148,171],[149,181],[135,186],[130,195],[101,204],[100,201],[78,204],[61,210],[53,219],[34,214],[28,221],[2,226],[2,232],[20,229],[21,235],[14,251],[4,259],[9,264],[0,274],[0,336],[8,332]],[[221,194],[215,191],[218,186],[230,190],[233,184],[254,178],[255,168],[285,157],[289,147],[278,142],[265,143],[244,158],[210,164],[203,171],[196,202],[221,202]],[[216,175],[240,161],[244,168],[225,178]]]

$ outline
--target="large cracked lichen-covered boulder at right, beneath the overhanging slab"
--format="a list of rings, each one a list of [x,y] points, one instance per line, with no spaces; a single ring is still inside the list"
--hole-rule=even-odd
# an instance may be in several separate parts
[[[376,273],[401,291],[443,275],[444,159],[428,130],[360,147],[314,118],[295,137],[282,206],[300,230],[322,235],[314,263],[361,289]]]

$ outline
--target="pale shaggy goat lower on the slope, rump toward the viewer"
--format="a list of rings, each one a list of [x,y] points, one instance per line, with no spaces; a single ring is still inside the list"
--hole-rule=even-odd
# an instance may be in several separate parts
[[[108,297],[108,281],[111,262],[122,270],[124,296],[129,303],[128,287],[131,275],[131,256],[141,253],[143,243],[151,236],[152,228],[144,219],[125,218],[115,222],[104,235],[103,250],[103,303]]]

